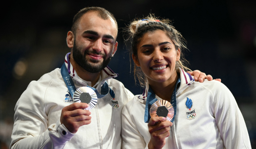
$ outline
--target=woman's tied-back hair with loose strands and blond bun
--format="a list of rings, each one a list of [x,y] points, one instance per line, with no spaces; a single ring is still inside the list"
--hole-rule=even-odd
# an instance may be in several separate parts
[[[127,29],[124,30],[127,32],[125,35],[126,37],[124,36],[125,43],[131,42],[131,48],[129,48],[130,60],[132,55],[138,56],[137,45],[140,43],[142,37],[147,32],[154,32],[158,29],[165,32],[165,35],[173,42],[176,50],[180,49],[180,60],[178,60],[175,64],[176,72],[179,71],[178,68],[190,70],[188,67],[186,67],[186,65],[189,63],[184,57],[183,50],[187,49],[187,47],[185,45],[186,41],[182,37],[181,33],[173,27],[169,19],[158,19],[158,17],[155,17],[154,14],[149,14],[143,19],[134,19],[131,23],[129,23]],[[138,78],[140,85],[146,87],[147,77],[144,75],[142,69],[134,64],[133,72],[135,83],[136,78]]]

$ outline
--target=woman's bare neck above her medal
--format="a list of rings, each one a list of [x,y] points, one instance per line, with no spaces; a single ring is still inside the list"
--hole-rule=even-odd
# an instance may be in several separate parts
[[[173,77],[170,77],[164,82],[155,82],[153,80],[148,80],[148,84],[153,84],[150,85],[150,87],[158,97],[170,102],[177,78],[178,75],[177,73],[175,73]]]

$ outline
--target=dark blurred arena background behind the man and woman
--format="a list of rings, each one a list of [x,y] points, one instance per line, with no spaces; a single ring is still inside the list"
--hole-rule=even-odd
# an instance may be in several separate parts
[[[192,70],[221,78],[244,116],[256,148],[256,1],[255,0],[113,0],[6,1],[1,14],[0,148],[10,145],[14,107],[32,80],[64,63],[74,15],[88,6],[103,7],[117,19],[118,51],[109,67],[133,94],[135,86],[122,28],[135,17],[169,18],[187,40]]]

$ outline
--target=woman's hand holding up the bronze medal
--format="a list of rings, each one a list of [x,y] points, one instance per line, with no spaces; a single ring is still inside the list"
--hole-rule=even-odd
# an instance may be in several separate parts
[[[161,149],[165,145],[165,138],[170,136],[170,121],[165,121],[165,117],[151,117],[148,122],[148,131],[150,133],[150,141],[148,149]]]

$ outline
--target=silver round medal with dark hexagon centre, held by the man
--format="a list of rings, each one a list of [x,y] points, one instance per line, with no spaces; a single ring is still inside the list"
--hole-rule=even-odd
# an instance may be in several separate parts
[[[83,102],[89,104],[89,106],[84,110],[93,109],[98,101],[97,94],[94,92],[93,89],[87,86],[78,88],[75,91],[73,98],[74,102]]]

